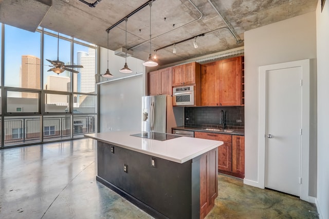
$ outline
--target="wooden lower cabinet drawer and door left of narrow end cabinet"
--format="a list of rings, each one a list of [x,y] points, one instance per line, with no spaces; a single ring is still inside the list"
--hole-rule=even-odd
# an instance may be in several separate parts
[[[194,137],[224,142],[218,147],[218,170],[232,171],[232,136],[229,134],[215,134],[194,132]]]

